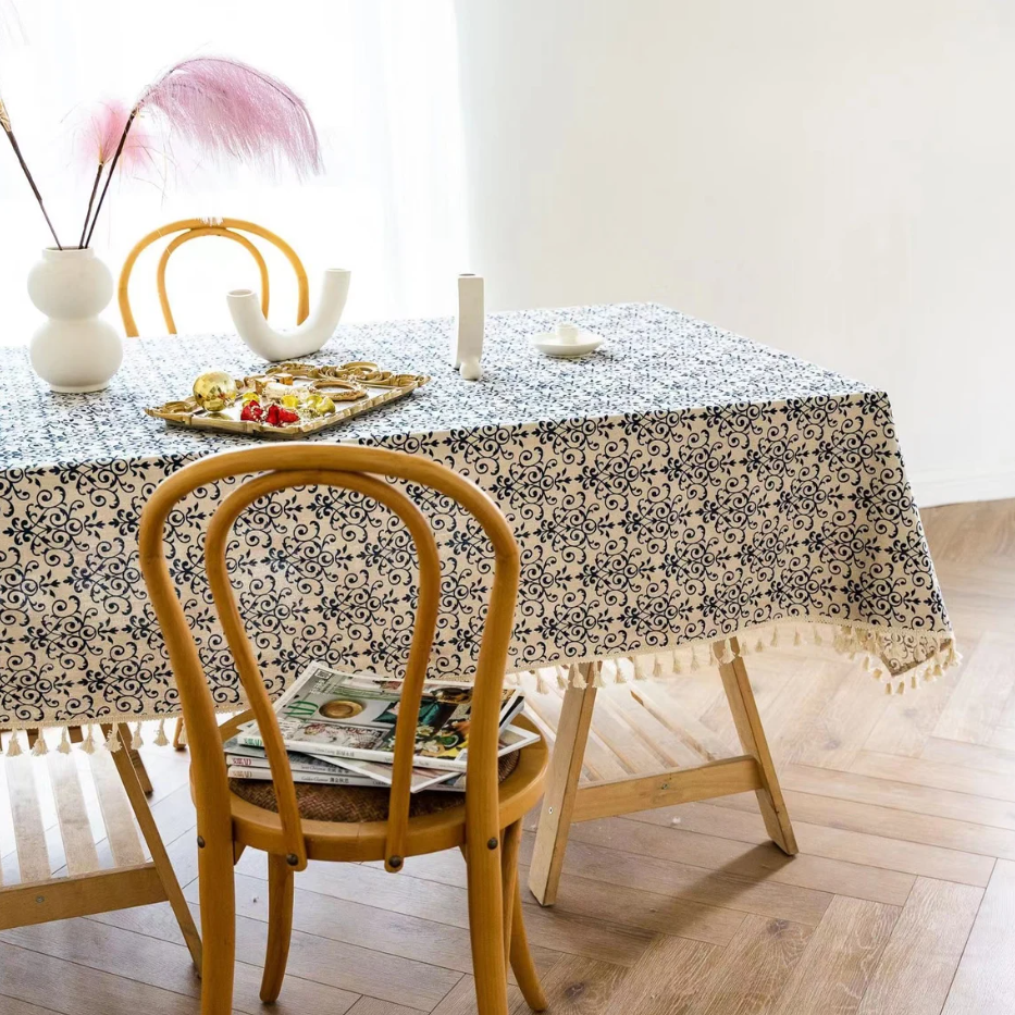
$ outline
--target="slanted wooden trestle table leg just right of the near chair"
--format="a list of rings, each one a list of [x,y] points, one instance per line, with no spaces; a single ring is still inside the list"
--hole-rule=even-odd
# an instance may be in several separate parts
[[[560,868],[568,845],[571,815],[578,796],[578,779],[585,756],[585,742],[592,722],[596,689],[592,685],[597,663],[579,666],[587,686],[568,685],[560,708],[560,722],[554,741],[554,754],[546,781],[546,794],[540,813],[532,864],[529,868],[529,890],[540,905],[550,906],[557,899]]]

